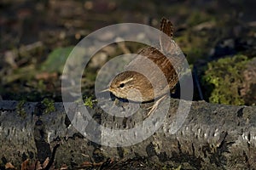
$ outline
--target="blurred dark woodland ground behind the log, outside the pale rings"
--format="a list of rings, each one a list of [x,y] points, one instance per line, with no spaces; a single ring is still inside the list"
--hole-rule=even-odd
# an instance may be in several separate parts
[[[165,16],[198,82],[195,100],[255,105],[255,7],[254,0],[1,0],[0,99],[61,101],[63,65],[83,37],[123,22],[159,28]],[[85,98],[94,98],[96,71],[108,59],[140,48],[127,42],[96,54],[84,72]]]

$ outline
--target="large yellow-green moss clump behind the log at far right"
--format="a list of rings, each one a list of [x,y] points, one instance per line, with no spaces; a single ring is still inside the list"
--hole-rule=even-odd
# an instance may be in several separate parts
[[[241,71],[247,61],[247,56],[235,55],[208,63],[202,84],[209,102],[224,105],[245,104],[239,90],[242,82]]]

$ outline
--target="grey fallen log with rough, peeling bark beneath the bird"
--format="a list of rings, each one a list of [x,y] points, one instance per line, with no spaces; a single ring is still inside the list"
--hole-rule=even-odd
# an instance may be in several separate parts
[[[255,106],[194,101],[182,126],[173,133],[170,117],[175,115],[178,104],[178,99],[170,99],[172,107],[163,123],[147,139],[130,146],[109,147],[90,141],[90,134],[85,138],[73,127],[75,115],[80,111],[78,104],[70,104],[67,116],[62,103],[55,103],[55,111],[46,113],[40,103],[20,105],[17,101],[0,101],[0,165],[12,162],[19,167],[26,159],[43,162],[49,157],[54,158],[55,167],[67,164],[73,168],[84,161],[102,162],[109,157],[114,160],[143,157],[159,166],[183,169],[256,168]],[[103,127],[131,129],[144,120],[147,107],[148,104],[142,104],[135,115],[125,118],[108,115],[98,106],[88,111]],[[86,128],[93,128],[91,125],[89,122]],[[92,130],[97,141],[108,136],[101,128]],[[53,154],[56,144],[61,145]]]

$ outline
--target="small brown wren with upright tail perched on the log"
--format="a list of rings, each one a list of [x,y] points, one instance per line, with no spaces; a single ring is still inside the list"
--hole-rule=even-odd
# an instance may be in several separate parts
[[[148,102],[162,99],[162,96],[166,96],[175,88],[178,82],[177,68],[183,63],[184,57],[180,56],[183,53],[172,40],[173,26],[170,20],[163,18],[160,21],[160,31],[160,47],[143,48],[126,66],[126,71],[113,78],[108,90],[116,97]],[[160,71],[148,65],[146,62],[148,60],[152,61]],[[145,72],[147,76],[144,75]],[[159,102],[155,104],[148,115],[156,109]]]

